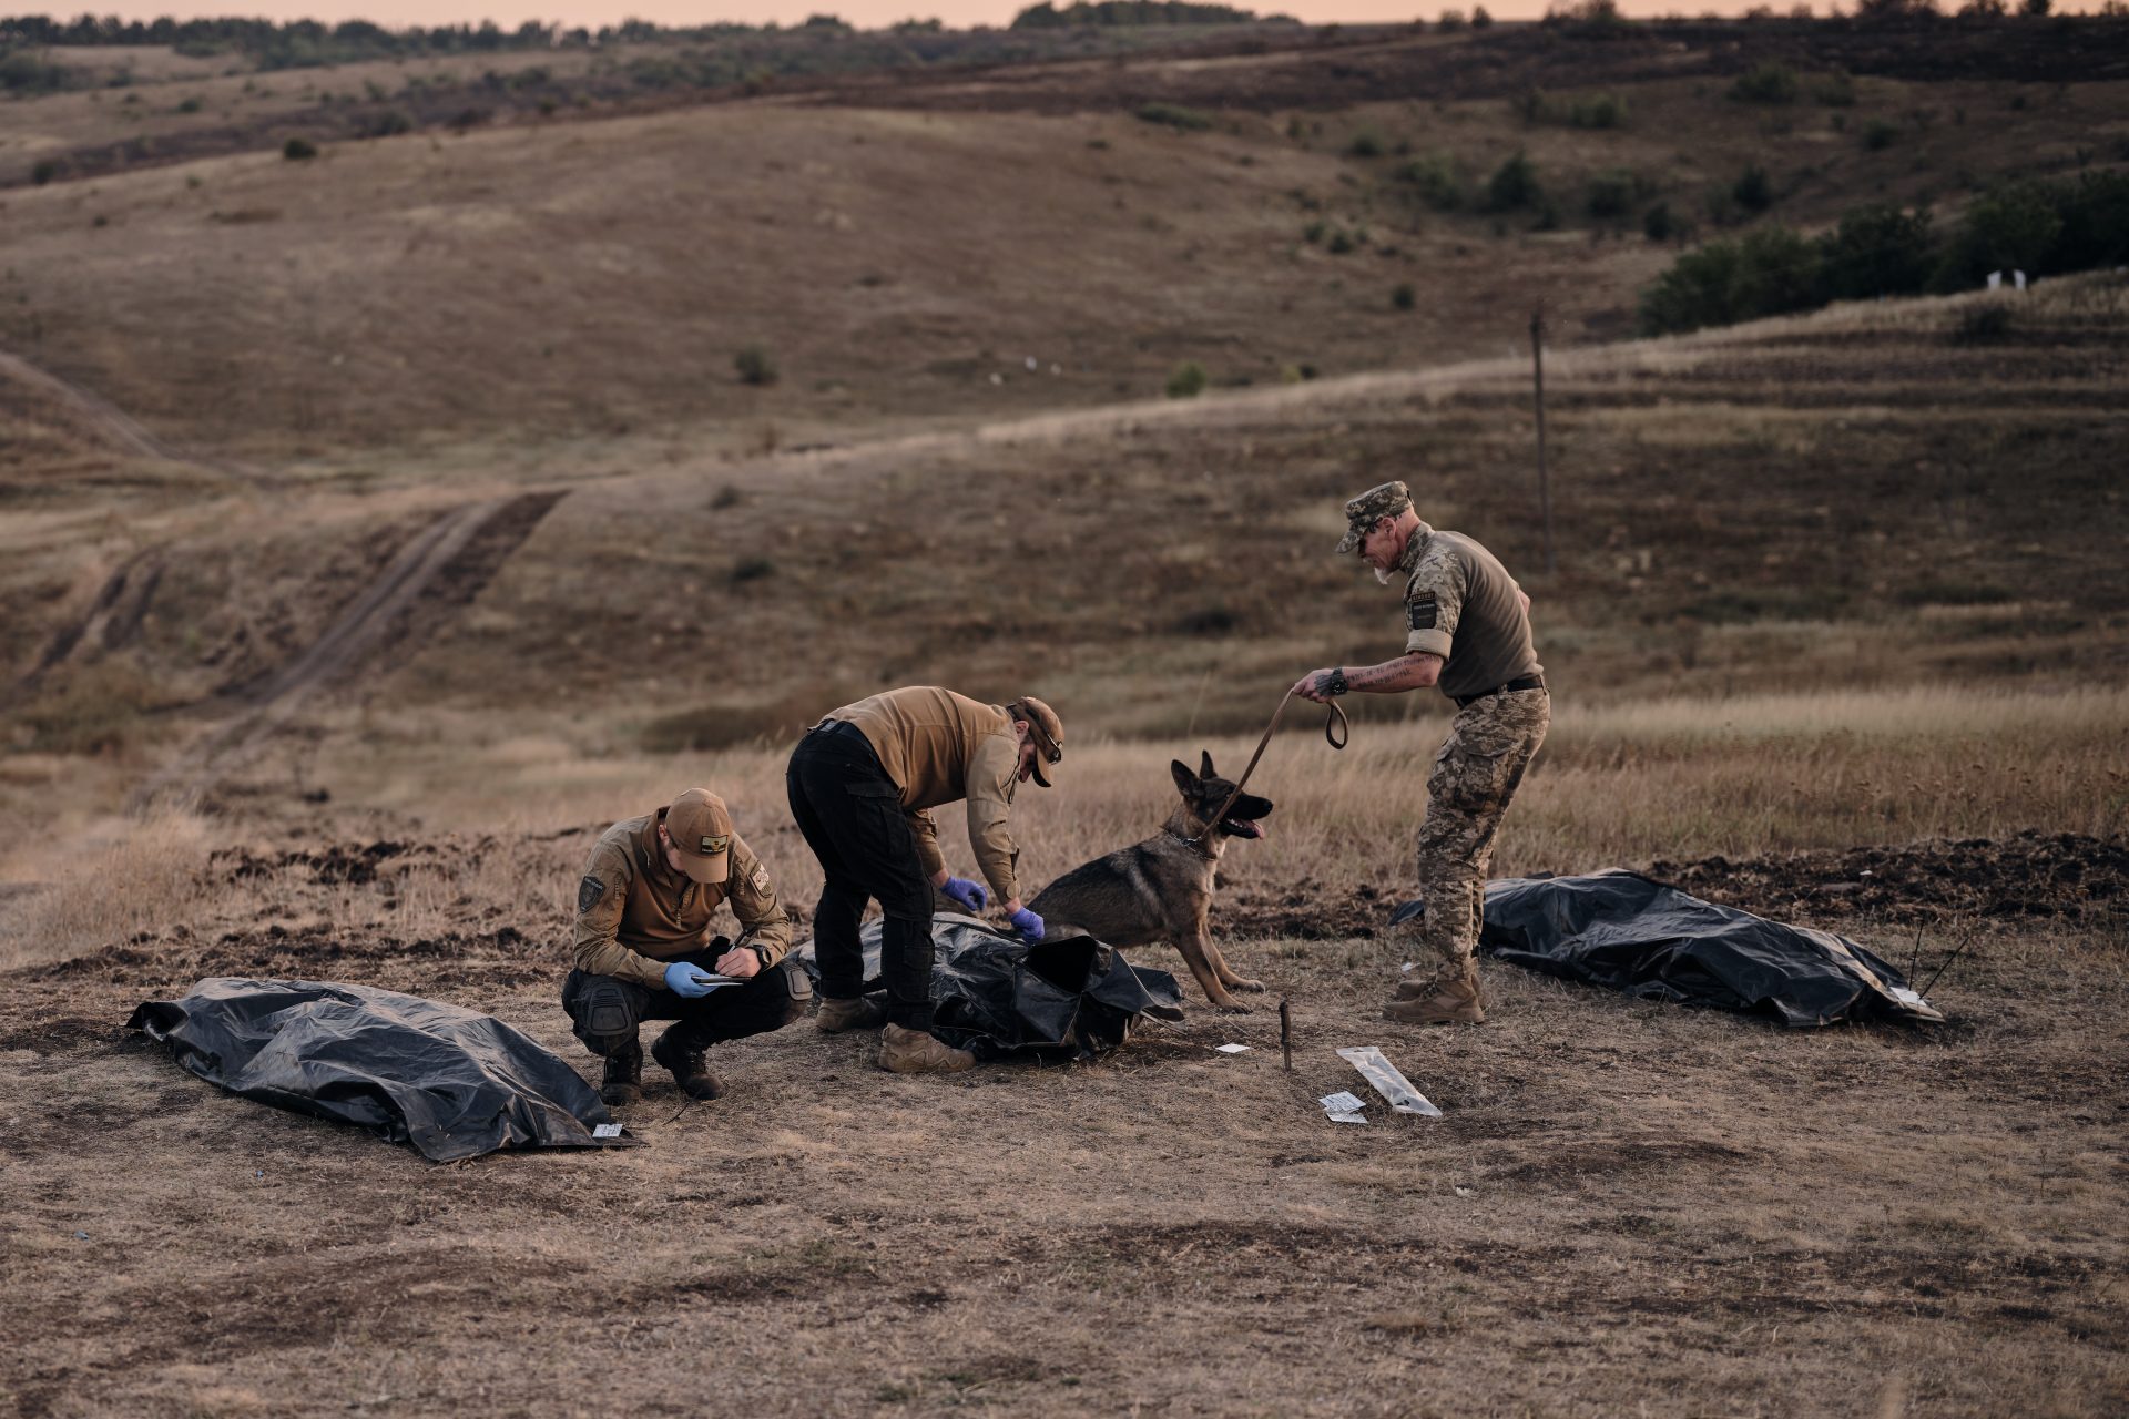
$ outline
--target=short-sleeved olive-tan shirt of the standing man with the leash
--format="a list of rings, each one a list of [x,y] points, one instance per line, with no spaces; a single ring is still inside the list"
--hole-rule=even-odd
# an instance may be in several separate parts
[[[1420,523],[1405,555],[1405,651],[1443,660],[1441,694],[1452,700],[1539,674],[1522,587],[1463,532]]]

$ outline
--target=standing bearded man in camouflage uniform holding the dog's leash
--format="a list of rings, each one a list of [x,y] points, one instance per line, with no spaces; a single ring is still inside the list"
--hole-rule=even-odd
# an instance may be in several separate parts
[[[1460,532],[1435,532],[1403,483],[1346,504],[1339,555],[1358,551],[1388,585],[1405,579],[1405,653],[1377,666],[1311,670],[1292,694],[1318,704],[1350,689],[1403,694],[1437,685],[1456,700],[1448,742],[1426,774],[1418,866],[1426,913],[1420,942],[1441,957],[1426,983],[1405,983],[1384,1011],[1414,1025],[1484,1023],[1478,932],[1501,815],[1546,742],[1552,698],[1531,645],[1531,598],[1507,568]]]

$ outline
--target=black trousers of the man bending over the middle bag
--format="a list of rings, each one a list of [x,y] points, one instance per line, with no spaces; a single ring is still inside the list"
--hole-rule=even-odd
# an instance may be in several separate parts
[[[901,787],[864,736],[847,725],[807,730],[792,751],[783,787],[792,819],[828,879],[813,908],[820,994],[830,1000],[864,994],[858,919],[864,902],[877,900],[886,915],[879,974],[888,987],[888,1023],[930,1032],[933,885],[903,813]]]

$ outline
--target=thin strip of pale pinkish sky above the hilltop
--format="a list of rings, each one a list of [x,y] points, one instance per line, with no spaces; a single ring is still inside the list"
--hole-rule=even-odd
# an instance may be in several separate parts
[[[954,28],[1005,26],[1030,0],[130,0],[109,4],[98,0],[60,0],[36,4],[34,0],[0,0],[0,13],[13,15],[62,15],[72,17],[83,11],[96,15],[119,15],[123,19],[153,19],[175,15],[179,19],[209,15],[266,15],[270,19],[375,19],[381,26],[447,26],[479,23],[494,19],[498,26],[515,28],[526,19],[547,19],[566,26],[598,28],[622,19],[649,19],[662,26],[698,26],[713,21],[745,23],[798,23],[807,15],[828,11],[854,26],[875,28],[896,19],[928,19],[937,15]],[[1062,0],[1060,0],[1062,2]],[[1231,0],[1233,2],[1233,0]],[[1260,15],[1284,13],[1311,23],[1328,21],[1405,21],[1433,19],[1443,4],[1471,9],[1471,0],[1424,0],[1407,4],[1403,0],[1292,0],[1290,4],[1250,4]],[[1701,15],[1718,11],[1742,15],[1754,0],[1620,0],[1627,15]],[[1497,19],[1537,19],[1546,13],[1546,0],[1488,0],[1488,11]],[[1788,11],[1790,0],[1776,0],[1778,11]],[[1822,13],[1827,0],[1818,0]],[[1946,9],[1957,9],[1948,4]],[[2086,4],[2059,4],[2057,9],[2091,9]]]

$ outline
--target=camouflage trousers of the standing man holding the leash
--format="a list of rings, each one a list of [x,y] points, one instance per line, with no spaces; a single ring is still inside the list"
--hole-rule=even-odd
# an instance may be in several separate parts
[[[1426,913],[1416,934],[1450,970],[1463,970],[1478,949],[1492,840],[1550,723],[1552,698],[1544,689],[1486,696],[1456,711],[1426,774],[1418,845]]]

